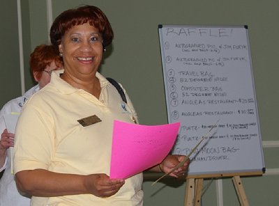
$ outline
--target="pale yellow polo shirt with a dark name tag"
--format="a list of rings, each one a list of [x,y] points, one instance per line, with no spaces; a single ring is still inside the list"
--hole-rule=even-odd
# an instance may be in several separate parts
[[[137,114],[125,104],[100,73],[99,100],[82,89],[70,86],[53,72],[50,84],[24,105],[15,132],[14,171],[43,168],[56,173],[110,175],[114,120],[133,122]],[[126,94],[127,95],[127,94]],[[100,122],[83,127],[77,120],[96,115]],[[132,138],[132,137],[131,137]],[[142,173],[130,177],[110,198],[91,194],[59,197],[33,197],[31,205],[142,205]]]

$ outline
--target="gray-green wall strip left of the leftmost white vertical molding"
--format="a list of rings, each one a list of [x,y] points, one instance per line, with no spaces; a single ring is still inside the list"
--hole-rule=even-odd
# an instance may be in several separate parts
[[[18,48],[17,1],[6,1],[0,6],[0,106],[21,95],[20,53]]]

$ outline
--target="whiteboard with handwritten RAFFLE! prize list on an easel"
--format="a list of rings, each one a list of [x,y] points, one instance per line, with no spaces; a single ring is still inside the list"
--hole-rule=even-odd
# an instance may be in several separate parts
[[[188,175],[264,171],[247,26],[159,25],[168,122],[181,122],[173,154]]]

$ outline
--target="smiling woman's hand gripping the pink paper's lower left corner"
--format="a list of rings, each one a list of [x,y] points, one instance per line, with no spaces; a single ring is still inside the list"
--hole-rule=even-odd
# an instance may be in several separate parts
[[[89,193],[101,198],[113,196],[124,183],[125,180],[111,180],[110,177],[105,174],[87,175],[84,182]]]

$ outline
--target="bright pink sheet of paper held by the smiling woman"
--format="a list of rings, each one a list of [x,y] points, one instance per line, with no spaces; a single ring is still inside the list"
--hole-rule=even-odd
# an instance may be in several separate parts
[[[136,125],[114,121],[110,178],[126,179],[159,164],[169,154],[180,123]]]

